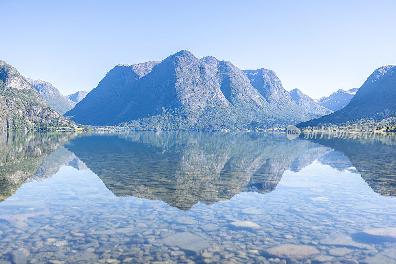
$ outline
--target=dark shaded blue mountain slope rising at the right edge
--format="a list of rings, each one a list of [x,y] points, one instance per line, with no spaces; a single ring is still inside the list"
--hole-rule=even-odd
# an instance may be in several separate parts
[[[396,117],[396,66],[376,69],[357,90],[349,104],[330,115],[298,124],[299,127],[321,124],[379,121]]]

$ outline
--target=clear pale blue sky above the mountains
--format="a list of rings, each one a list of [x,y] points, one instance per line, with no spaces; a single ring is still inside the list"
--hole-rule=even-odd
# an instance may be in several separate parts
[[[396,1],[3,1],[0,60],[64,95],[182,49],[274,70],[313,98],[396,64]]]

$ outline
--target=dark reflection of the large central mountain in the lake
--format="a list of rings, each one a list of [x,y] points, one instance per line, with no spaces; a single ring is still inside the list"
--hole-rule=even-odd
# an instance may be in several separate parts
[[[314,156],[330,151],[307,140],[288,141],[283,134],[252,132],[92,135],[66,148],[117,196],[162,200],[182,210],[241,191],[270,192],[297,158],[301,168],[312,162],[300,157],[307,150]]]

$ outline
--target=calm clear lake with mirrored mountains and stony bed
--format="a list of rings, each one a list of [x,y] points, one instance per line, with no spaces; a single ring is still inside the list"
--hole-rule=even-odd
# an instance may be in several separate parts
[[[0,263],[396,263],[396,140],[0,134]]]

